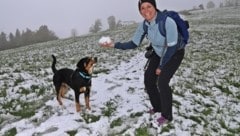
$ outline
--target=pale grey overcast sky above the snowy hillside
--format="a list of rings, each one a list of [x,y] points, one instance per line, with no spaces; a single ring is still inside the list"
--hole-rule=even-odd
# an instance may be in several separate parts
[[[210,0],[156,0],[158,9],[191,9]],[[211,0],[219,4],[221,0]],[[86,34],[96,19],[107,27],[107,18],[141,21],[138,0],[0,0],[0,32],[15,34],[26,28],[37,30],[41,25],[60,38],[69,37],[71,30]],[[218,6],[218,5],[217,5]]]

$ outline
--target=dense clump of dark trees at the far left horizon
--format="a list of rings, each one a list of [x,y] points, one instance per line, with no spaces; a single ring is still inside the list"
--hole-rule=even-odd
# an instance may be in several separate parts
[[[25,31],[20,32],[16,30],[15,34],[5,32],[0,34],[0,50],[20,47],[23,45],[30,45],[34,43],[46,42],[56,40],[58,37],[55,33],[48,29],[48,26],[42,25],[37,31],[32,31],[27,28]]]

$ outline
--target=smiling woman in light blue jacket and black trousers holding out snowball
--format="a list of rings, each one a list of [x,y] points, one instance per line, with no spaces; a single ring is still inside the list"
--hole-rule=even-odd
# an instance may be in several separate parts
[[[177,44],[177,25],[173,19],[167,17],[165,23],[166,37],[164,37],[159,31],[159,24],[156,23],[156,17],[161,12],[157,9],[155,0],[139,0],[138,8],[144,21],[139,24],[131,41],[125,43],[113,43],[111,41],[100,45],[123,50],[134,49],[141,44],[146,35],[143,23],[147,25],[147,39],[151,42],[154,52],[144,73],[144,84],[153,106],[153,109],[150,111],[151,113],[161,112],[157,122],[159,125],[162,125],[173,119],[172,90],[169,82],[182,62],[184,49],[174,52],[167,61],[165,60],[166,63],[163,64],[162,61],[164,60],[161,61],[161,58],[165,58],[164,56],[168,52],[167,49]]]

